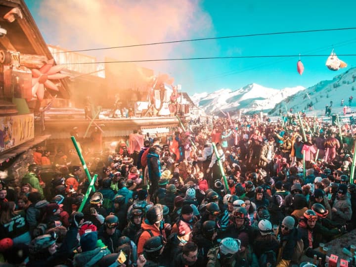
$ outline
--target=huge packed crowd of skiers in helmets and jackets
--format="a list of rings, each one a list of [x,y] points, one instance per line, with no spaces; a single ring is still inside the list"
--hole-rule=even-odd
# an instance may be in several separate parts
[[[116,151],[85,155],[92,187],[74,150],[38,147],[22,179],[0,182],[2,262],[287,267],[307,256],[324,266],[332,252],[319,244],[356,227],[354,138],[348,124],[343,136],[309,130],[296,116],[255,116],[178,128],[169,143],[134,131]]]

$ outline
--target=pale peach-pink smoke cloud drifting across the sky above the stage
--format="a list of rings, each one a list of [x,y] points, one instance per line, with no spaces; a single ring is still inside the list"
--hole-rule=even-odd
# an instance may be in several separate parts
[[[51,45],[65,49],[90,49],[205,37],[212,21],[199,1],[190,0],[46,0],[39,6],[47,21],[39,25]],[[179,51],[177,53],[177,51]],[[142,60],[189,57],[196,51],[189,43],[152,45],[81,52],[103,60]],[[164,71],[169,62],[138,63]],[[177,69],[184,69],[184,62]],[[170,71],[174,71],[172,66]],[[174,73],[172,73],[174,76]]]

